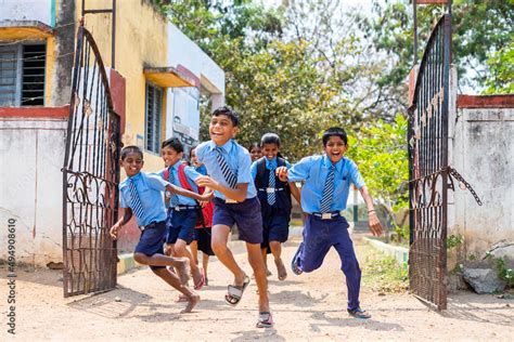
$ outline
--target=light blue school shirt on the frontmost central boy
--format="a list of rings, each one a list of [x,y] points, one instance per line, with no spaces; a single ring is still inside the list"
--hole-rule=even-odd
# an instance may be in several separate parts
[[[200,162],[205,165],[207,173],[221,185],[230,187],[224,180],[221,168],[218,163],[218,153],[216,152],[217,145],[213,141],[202,143],[196,147],[196,158]],[[222,154],[229,169],[237,176],[237,184],[248,184],[248,190],[246,192],[246,198],[254,198],[257,196],[255,189],[254,179],[252,177],[250,166],[252,158],[249,157],[248,150],[242,147],[240,144],[234,142],[232,139],[229,140],[224,145],[219,146],[222,149]],[[226,199],[224,195],[218,190],[215,190],[215,196],[221,199]]]

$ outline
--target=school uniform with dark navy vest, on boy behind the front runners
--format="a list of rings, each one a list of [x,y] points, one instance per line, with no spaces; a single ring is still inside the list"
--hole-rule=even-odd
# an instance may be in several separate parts
[[[280,162],[280,165],[279,165]],[[266,157],[252,163],[252,176],[257,188],[262,214],[262,244],[268,248],[270,241],[285,242],[290,234],[291,190],[287,182],[282,182],[277,175],[278,167],[291,168],[291,163],[277,157],[269,160]]]

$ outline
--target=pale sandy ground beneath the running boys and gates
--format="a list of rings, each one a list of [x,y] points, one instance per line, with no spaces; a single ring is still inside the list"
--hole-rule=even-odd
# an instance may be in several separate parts
[[[288,264],[298,241],[284,248]],[[358,256],[364,249],[357,244]],[[236,259],[250,274],[243,249]],[[362,255],[361,255],[362,258]],[[272,262],[271,262],[272,264]],[[514,340],[514,300],[459,292],[445,312],[429,310],[408,293],[386,294],[364,286],[362,307],[373,317],[350,318],[345,310],[346,287],[335,251],[311,274],[277,279],[271,268],[274,328],[257,329],[255,281],[236,307],[223,300],[230,274],[213,260],[209,286],[191,314],[175,303],[177,292],[150,269],[134,269],[118,278],[117,289],[97,295],[63,298],[59,271],[18,269],[16,280],[16,340]],[[365,272],[365,269],[363,271]],[[0,269],[1,336],[8,334],[7,269]]]

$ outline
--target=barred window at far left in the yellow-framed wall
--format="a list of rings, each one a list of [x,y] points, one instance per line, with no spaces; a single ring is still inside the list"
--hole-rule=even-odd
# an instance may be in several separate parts
[[[0,43],[0,106],[43,106],[46,44]]]

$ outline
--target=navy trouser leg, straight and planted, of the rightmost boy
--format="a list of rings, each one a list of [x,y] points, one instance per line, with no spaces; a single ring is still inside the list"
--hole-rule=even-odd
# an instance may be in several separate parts
[[[356,311],[359,308],[361,271],[354,250],[354,242],[348,234],[348,223],[344,218],[339,220],[337,228],[334,229],[334,248],[339,254],[340,269],[346,277],[348,310]]]

